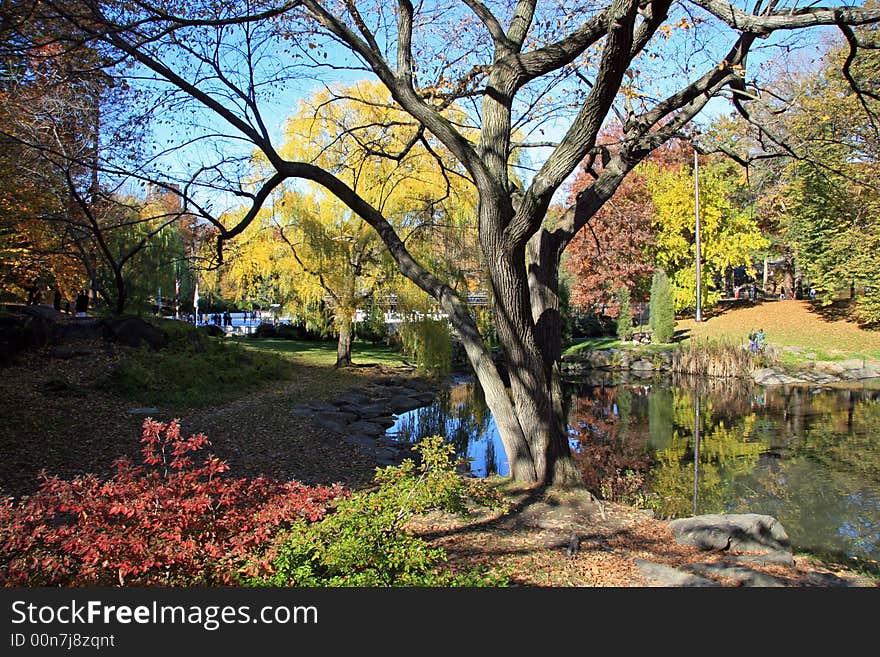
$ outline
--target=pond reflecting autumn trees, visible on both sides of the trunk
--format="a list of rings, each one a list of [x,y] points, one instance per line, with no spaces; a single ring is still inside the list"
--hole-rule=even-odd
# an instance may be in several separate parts
[[[662,518],[765,513],[795,550],[880,560],[880,382],[763,388],[603,374],[567,389],[572,450],[602,498]],[[434,434],[474,475],[508,474],[472,380],[453,380],[388,430],[403,441]]]

